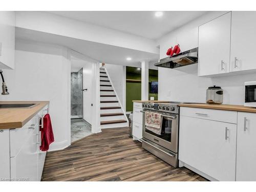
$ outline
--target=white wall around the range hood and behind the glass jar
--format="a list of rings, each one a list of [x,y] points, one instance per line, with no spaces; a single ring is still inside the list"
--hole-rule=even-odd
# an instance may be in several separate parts
[[[160,43],[160,58],[166,57],[167,48],[177,42],[181,45],[182,51],[198,47],[198,26],[222,14],[223,12],[212,12],[203,15],[194,22],[160,38],[158,40]],[[215,78],[198,77],[197,66],[191,65],[177,69],[159,68],[159,100],[205,102],[206,89],[216,85],[221,86],[224,90],[223,103],[243,104],[243,83],[256,80],[256,74]]]

